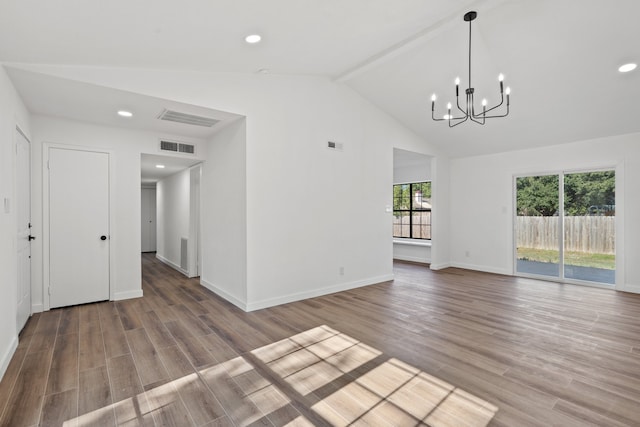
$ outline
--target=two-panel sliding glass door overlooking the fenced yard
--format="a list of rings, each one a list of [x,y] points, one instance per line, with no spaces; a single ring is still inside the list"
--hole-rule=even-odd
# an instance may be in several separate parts
[[[516,273],[615,284],[615,172],[515,180]]]

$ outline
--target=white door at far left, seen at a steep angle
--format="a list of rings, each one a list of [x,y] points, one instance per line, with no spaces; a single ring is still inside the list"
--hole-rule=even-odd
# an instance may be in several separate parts
[[[16,217],[18,225],[18,313],[22,330],[31,316],[31,147],[16,129]]]

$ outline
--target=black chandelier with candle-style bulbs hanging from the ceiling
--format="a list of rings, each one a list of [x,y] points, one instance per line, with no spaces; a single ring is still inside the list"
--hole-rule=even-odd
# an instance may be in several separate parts
[[[460,116],[454,116],[453,113],[451,112],[451,103],[449,102],[447,104],[447,114],[443,117],[443,118],[436,118],[435,117],[435,108],[436,108],[436,94],[434,93],[431,96],[431,118],[433,120],[435,120],[436,122],[441,122],[441,121],[448,121],[449,122],[449,127],[455,127],[458,126],[459,124],[462,124],[464,122],[466,122],[467,120],[471,119],[471,121],[476,122],[478,124],[484,125],[485,120],[486,119],[493,119],[496,117],[506,117],[509,114],[509,95],[511,93],[511,89],[507,87],[507,89],[504,89],[504,76],[502,74],[500,74],[498,76],[498,82],[500,83],[500,103],[487,108],[487,100],[483,99],[482,100],[482,112],[476,112],[475,109],[475,104],[474,104],[474,99],[473,99],[473,95],[475,92],[475,89],[471,86],[471,21],[473,21],[474,19],[476,19],[476,17],[478,16],[477,12],[471,11],[471,12],[467,12],[464,15],[464,20],[465,22],[469,23],[469,87],[467,87],[467,89],[465,90],[465,93],[467,95],[467,102],[466,102],[466,106],[465,108],[460,107],[460,97],[459,97],[459,93],[460,93],[460,78],[456,78],[456,106],[458,107],[458,110],[460,113],[462,113],[462,115]],[[504,114],[499,114],[498,112],[495,112],[493,114],[490,114],[492,111],[496,110],[497,108],[499,108],[500,106],[502,106],[502,104],[504,103],[504,98],[505,95],[507,95],[507,107],[506,107],[506,112],[504,112]],[[503,109],[504,111],[504,109]],[[458,112],[456,112],[457,114]]]

